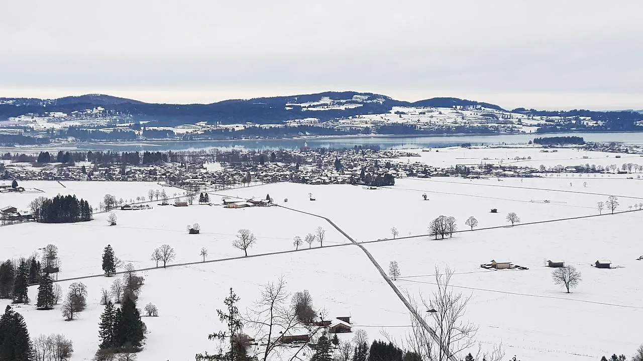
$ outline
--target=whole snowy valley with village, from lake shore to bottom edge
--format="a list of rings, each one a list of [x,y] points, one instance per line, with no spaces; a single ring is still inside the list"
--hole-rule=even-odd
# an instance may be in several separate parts
[[[5,154],[0,350],[638,361],[639,150]]]

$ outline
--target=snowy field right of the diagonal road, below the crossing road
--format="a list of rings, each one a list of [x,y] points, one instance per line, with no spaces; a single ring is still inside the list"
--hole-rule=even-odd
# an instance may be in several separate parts
[[[456,273],[454,290],[471,295],[467,319],[478,339],[499,343],[521,360],[598,360],[632,353],[642,342],[643,254],[637,232],[643,212],[455,234],[446,240],[412,238],[369,243],[380,264],[397,261],[395,283],[410,294],[430,295],[435,265]],[[618,269],[596,269],[597,259]],[[491,260],[529,270],[485,270]],[[554,285],[545,260],[574,265],[583,281],[572,294]],[[616,326],[618,325],[618,326]],[[605,326],[605,328],[603,328]],[[604,331],[599,331],[604,330]]]

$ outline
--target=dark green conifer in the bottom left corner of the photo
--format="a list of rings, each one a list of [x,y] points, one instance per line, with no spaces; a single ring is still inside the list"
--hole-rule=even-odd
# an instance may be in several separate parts
[[[33,346],[27,325],[20,313],[6,306],[0,317],[0,360],[32,361]]]

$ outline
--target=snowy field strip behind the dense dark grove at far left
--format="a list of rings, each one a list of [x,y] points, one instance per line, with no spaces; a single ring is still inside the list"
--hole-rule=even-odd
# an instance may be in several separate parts
[[[5,181],[0,184],[11,184]],[[123,198],[129,202],[131,198],[136,202],[136,197],[145,197],[150,189],[165,190],[168,197],[174,193],[182,195],[183,189],[164,187],[156,182],[85,182],[61,180],[25,180],[19,182],[19,186],[24,187],[27,191],[24,193],[0,193],[0,207],[14,206],[18,209],[28,209],[29,203],[37,197],[55,197],[56,195],[76,195],[78,198],[84,198],[89,205],[98,208],[106,193],[114,195],[116,199]]]

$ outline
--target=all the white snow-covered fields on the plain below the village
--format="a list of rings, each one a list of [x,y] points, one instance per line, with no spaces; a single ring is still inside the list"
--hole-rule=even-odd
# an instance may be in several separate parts
[[[442,150],[431,152],[437,154],[441,156]],[[534,152],[532,159],[536,155]],[[557,156],[571,161],[576,155]],[[555,165],[565,160],[539,161]],[[105,193],[129,199],[147,195],[149,189],[161,189],[154,183],[137,182],[62,184],[67,188],[58,182],[21,182],[21,186],[45,193],[2,193],[0,207],[10,204],[24,208],[35,197],[58,193],[75,193],[95,206]],[[141,272],[146,281],[139,306],[155,303],[160,316],[144,319],[149,333],[140,360],[188,360],[195,353],[215,351],[207,335],[221,330],[215,310],[222,308],[229,288],[241,297],[243,310],[257,299],[260,285],[280,276],[291,292],[309,290],[316,306],[325,308],[329,316],[352,316],[354,330],[367,330],[370,340],[382,339],[382,331],[401,339],[410,324],[408,310],[364,252],[315,215],[331,219],[358,242],[368,242],[390,238],[391,227],[397,227],[399,236],[426,234],[430,220],[439,215],[455,216],[461,230],[466,229],[464,221],[471,215],[478,219],[480,228],[507,226],[505,216],[509,212],[517,213],[525,224],[597,215],[597,202],[605,201],[608,195],[617,195],[617,210],[624,211],[643,202],[642,184],[641,180],[616,175],[502,181],[397,179],[395,186],[375,190],[349,185],[267,184],[211,193],[210,198],[218,202],[223,196],[265,197],[269,193],[284,207],[154,206],[149,210],[114,211],[118,220],[113,227],[107,225],[105,213],[80,224],[6,225],[0,227],[0,258],[30,256],[47,243],[54,243],[62,261],[60,279],[100,274],[102,249],[108,243],[118,258],[136,268],[153,267],[150,253],[163,243],[176,250],[173,263],[197,262]],[[181,193],[181,189],[162,189],[168,194]],[[316,200],[309,200],[308,193]],[[422,193],[429,200],[422,200]],[[491,208],[497,208],[498,213],[490,213]],[[642,216],[643,211],[637,211],[462,232],[446,240],[426,236],[386,240],[365,243],[365,247],[384,269],[389,261],[397,261],[402,277],[395,284],[415,297],[430,294],[436,265],[454,269],[452,285],[471,295],[466,316],[480,326],[478,339],[484,347],[502,342],[507,358],[517,355],[523,361],[590,361],[612,353],[628,355],[643,342],[638,332],[643,322],[643,261],[635,260],[643,254],[638,236]],[[187,234],[186,225],[193,223],[201,225],[201,234]],[[267,254],[293,250],[293,237],[303,238],[316,227],[327,230],[324,248],[307,250],[304,244],[304,251]],[[222,260],[243,256],[231,245],[241,228],[257,236],[257,244],[248,251],[255,257]],[[208,249],[208,260],[221,261],[198,263],[201,247]],[[604,258],[619,268],[590,267],[590,263]],[[492,259],[511,261],[529,270],[489,271],[479,267]],[[583,281],[572,294],[565,294],[552,283],[551,270],[543,267],[543,260],[574,265],[582,272]],[[16,306],[16,310],[23,313],[32,336],[64,333],[74,342],[72,360],[89,360],[98,346],[100,288],[107,288],[112,281],[105,277],[82,280],[89,290],[89,305],[73,322],[64,322],[58,308],[36,311],[30,304]],[[61,285],[66,288],[69,281]],[[33,300],[35,296],[36,287],[32,286],[30,297]],[[7,302],[0,300],[0,306]]]

